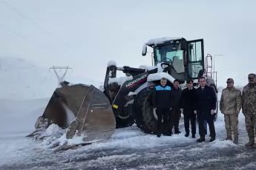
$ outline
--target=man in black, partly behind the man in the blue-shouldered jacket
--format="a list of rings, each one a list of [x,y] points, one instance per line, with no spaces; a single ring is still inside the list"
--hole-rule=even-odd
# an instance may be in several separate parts
[[[174,80],[174,88],[171,89],[171,131],[174,126],[174,134],[180,134],[179,123],[181,115],[181,95],[179,80]]]

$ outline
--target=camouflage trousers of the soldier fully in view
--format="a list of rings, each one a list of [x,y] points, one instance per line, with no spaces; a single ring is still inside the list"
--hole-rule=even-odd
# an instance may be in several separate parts
[[[227,137],[232,137],[232,132],[234,137],[238,136],[238,116],[237,115],[224,115],[226,135]]]

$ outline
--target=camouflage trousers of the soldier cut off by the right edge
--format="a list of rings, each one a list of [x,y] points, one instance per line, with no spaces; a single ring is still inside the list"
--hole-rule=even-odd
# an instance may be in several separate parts
[[[246,120],[246,131],[249,137],[255,137],[255,129],[256,129],[256,114],[245,114]]]

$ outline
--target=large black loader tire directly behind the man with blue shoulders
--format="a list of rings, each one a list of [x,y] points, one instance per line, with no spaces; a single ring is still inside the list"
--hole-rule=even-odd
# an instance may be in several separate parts
[[[145,133],[157,133],[157,119],[153,114],[153,88],[147,87],[138,93],[134,100],[134,118],[137,126]]]

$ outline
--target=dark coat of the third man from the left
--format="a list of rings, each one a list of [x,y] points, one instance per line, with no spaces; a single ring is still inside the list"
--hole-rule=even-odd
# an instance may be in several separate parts
[[[183,108],[183,115],[194,115],[194,110],[196,109],[195,102],[195,90],[192,89],[183,89],[182,97],[181,97],[181,105]]]

